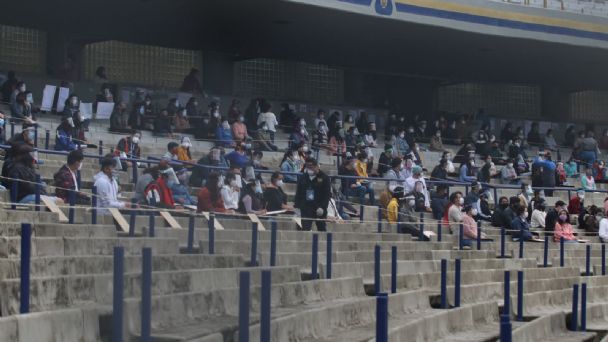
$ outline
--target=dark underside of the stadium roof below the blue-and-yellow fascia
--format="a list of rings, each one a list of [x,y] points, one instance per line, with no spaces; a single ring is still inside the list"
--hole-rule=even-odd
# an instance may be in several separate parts
[[[333,1],[333,0],[327,0]],[[0,23],[448,81],[608,88],[608,50],[332,10],[287,0],[21,0]]]

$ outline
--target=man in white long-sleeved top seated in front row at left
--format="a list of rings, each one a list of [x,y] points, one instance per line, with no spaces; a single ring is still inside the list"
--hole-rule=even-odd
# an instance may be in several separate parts
[[[118,200],[118,183],[112,176],[116,162],[111,158],[101,161],[101,171],[95,175],[95,187],[97,188],[98,213],[105,215],[108,210],[104,208],[128,208],[129,204]]]

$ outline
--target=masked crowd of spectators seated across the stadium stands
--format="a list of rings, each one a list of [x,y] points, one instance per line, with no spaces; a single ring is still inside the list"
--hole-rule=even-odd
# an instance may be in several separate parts
[[[33,148],[35,113],[39,108],[33,104],[23,82],[15,84],[9,101],[11,120],[22,124],[23,131],[8,141],[11,148],[2,169],[3,185],[10,188],[13,180],[20,180],[16,200],[32,203],[37,183],[35,165],[42,162]],[[97,101],[114,101],[108,84],[102,85]],[[80,99],[71,94],[61,113],[55,139],[55,149],[69,154],[66,165],[54,175],[55,197],[49,198],[88,204],[91,198],[80,191],[77,175],[84,159],[81,149],[88,146],[85,132],[89,120],[79,108]],[[157,165],[148,164],[143,170],[135,184],[138,206],[258,215],[298,210],[304,229],[311,229],[316,223],[319,230],[325,230],[326,220],[358,216],[359,210],[353,205],[357,202],[380,206],[384,218],[398,224],[401,233],[418,236],[420,213],[429,213],[451,231],[462,225],[465,244],[477,239],[480,220],[506,228],[516,239],[535,240],[534,229],[538,228],[553,232],[557,241],[561,238],[577,241],[571,225],[571,216],[575,216],[578,228],[608,239],[608,221],[603,218],[606,206],[584,205],[585,191],[593,191],[597,183],[608,181],[605,163],[598,160],[600,148],[608,148],[606,134],[597,142],[593,131],[577,135],[570,127],[564,145],[573,150],[564,163],[552,130],[541,138],[538,124],[532,124],[524,137],[522,127],[513,130],[511,123],[507,123],[497,139],[485,122],[479,130],[470,131],[464,116],[454,121],[440,116],[428,125],[418,117],[393,114],[386,122],[383,152],[376,160],[374,149],[379,146],[376,123],[365,112],[356,119],[350,114],[343,118],[337,111],[326,118],[326,112],[319,110],[312,127],[288,104],[282,105],[277,119],[270,102],[261,98],[253,99],[244,112],[235,100],[226,115],[221,114],[216,102],[202,112],[195,97],[186,104],[171,99],[158,115],[155,112],[151,96],[143,92],[136,94],[131,110],[125,103],[117,104],[110,118],[110,131],[126,135],[101,160],[100,172],[92,180],[101,212],[104,208],[131,205],[130,201],[121,200],[121,172],[144,166],[129,159],[142,158],[141,131],[152,130],[170,138],[175,137],[174,133],[182,136],[179,142],[167,145],[167,152]],[[278,165],[267,166],[264,152],[279,151],[275,140],[278,130],[288,135],[288,147],[281,151],[284,156]],[[213,141],[214,146],[196,160],[193,152],[197,151],[191,150],[193,144],[184,134]],[[443,139],[461,148],[454,153],[444,146]],[[429,178],[424,177],[422,152],[426,147],[421,143],[442,154]],[[530,146],[539,147],[538,155],[531,160]],[[320,169],[317,160],[321,154],[336,157],[339,177],[332,179]],[[478,157],[482,165],[477,164]],[[458,168],[456,164],[460,164]],[[268,171],[272,168],[280,172]],[[264,181],[260,171],[271,173],[269,181]],[[377,186],[376,177],[382,178],[386,186]],[[568,186],[575,177],[580,177],[582,186],[577,195],[567,205],[557,201],[555,208],[546,212],[541,192],[551,197],[552,188]],[[523,182],[527,178],[531,179],[530,185]],[[519,185],[519,194],[502,197],[496,206],[491,206],[488,184],[494,180]],[[287,183],[295,184],[293,204],[284,190]],[[457,183],[470,185],[470,191],[466,195],[450,192],[449,186]],[[192,195],[192,187],[200,188],[197,195]],[[534,190],[539,188],[544,190]]]

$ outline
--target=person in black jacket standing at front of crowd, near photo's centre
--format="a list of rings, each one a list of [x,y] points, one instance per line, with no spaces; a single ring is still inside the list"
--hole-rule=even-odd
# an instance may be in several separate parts
[[[319,169],[319,163],[309,158],[304,163],[304,174],[298,180],[295,207],[300,209],[302,229],[311,230],[315,221],[318,231],[325,231],[327,206],[331,198],[331,182],[329,177]]]

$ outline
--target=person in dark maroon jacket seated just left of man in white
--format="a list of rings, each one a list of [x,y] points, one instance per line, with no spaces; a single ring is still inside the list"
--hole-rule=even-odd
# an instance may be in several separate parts
[[[76,193],[75,204],[87,205],[91,203],[91,199],[83,192],[80,192],[77,181],[77,173],[82,168],[83,160],[82,151],[75,150],[70,152],[67,163],[53,176],[55,195],[65,203],[69,203],[70,201],[70,191]]]

